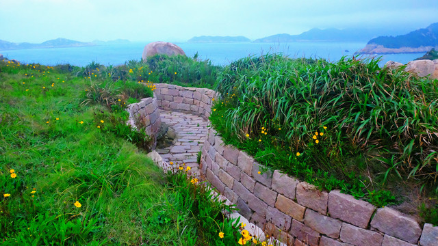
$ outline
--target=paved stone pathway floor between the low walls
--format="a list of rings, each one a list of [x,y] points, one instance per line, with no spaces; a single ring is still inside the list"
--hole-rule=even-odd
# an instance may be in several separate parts
[[[201,150],[207,136],[209,122],[201,116],[175,111],[159,110],[162,122],[172,126],[177,133],[177,139],[172,146],[156,151],[163,161],[174,165],[182,165],[192,168],[192,173],[199,176],[197,161],[198,152]]]

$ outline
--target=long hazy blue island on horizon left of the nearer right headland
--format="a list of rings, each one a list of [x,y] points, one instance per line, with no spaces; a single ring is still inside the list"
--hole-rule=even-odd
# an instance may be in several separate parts
[[[266,38],[259,38],[254,42],[354,42],[367,41],[385,33],[383,29],[319,29],[313,28],[298,35],[287,33],[275,34]]]

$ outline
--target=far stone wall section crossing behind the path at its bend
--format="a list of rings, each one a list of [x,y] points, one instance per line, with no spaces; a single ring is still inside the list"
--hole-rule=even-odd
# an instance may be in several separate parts
[[[166,83],[154,84],[158,106],[161,109],[192,113],[208,120],[211,105],[218,94],[214,90],[182,87]]]

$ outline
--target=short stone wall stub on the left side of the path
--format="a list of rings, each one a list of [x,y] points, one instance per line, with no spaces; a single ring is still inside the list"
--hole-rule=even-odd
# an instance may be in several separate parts
[[[146,134],[154,139],[152,148],[155,149],[157,133],[162,124],[159,117],[157,98],[155,96],[153,98],[143,98],[138,103],[128,105],[127,111],[129,112],[128,123],[134,127],[136,127],[136,124],[140,124],[146,128]]]

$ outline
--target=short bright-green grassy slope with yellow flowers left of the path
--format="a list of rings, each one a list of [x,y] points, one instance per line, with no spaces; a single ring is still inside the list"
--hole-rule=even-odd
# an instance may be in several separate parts
[[[123,97],[88,100],[90,82],[110,83],[91,65],[94,78],[0,61],[1,244],[238,245],[233,206],[184,169],[163,174]]]

